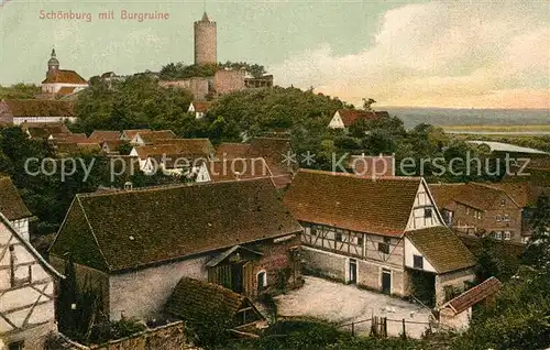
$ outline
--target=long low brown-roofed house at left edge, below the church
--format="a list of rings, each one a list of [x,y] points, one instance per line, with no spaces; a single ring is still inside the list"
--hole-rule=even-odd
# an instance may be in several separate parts
[[[0,124],[76,121],[74,106],[67,101],[4,99],[0,101]]]

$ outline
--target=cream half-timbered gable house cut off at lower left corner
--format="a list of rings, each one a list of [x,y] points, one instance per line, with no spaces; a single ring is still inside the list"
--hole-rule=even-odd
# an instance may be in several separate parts
[[[48,333],[57,331],[54,285],[63,276],[2,212],[0,247],[0,348],[44,349]]]

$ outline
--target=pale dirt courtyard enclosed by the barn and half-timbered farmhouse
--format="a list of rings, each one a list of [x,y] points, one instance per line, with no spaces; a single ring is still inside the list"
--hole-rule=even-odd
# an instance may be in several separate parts
[[[311,276],[305,280],[300,289],[275,297],[279,316],[307,316],[341,325],[370,319],[373,315],[387,317],[387,333],[391,337],[399,336],[404,318],[408,337],[420,338],[428,328],[430,310],[419,305],[354,285]],[[345,329],[351,329],[351,326]],[[367,333],[370,329],[371,321],[355,325],[358,335]]]

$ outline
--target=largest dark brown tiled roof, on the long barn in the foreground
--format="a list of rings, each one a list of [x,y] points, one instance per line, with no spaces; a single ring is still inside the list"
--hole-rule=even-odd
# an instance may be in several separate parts
[[[118,272],[301,231],[270,179],[77,195],[51,253]]]

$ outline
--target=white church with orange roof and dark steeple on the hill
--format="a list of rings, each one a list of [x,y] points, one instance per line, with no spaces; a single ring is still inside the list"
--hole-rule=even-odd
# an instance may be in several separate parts
[[[42,92],[55,95],[70,95],[88,87],[88,81],[75,70],[59,69],[59,61],[52,50],[52,57],[47,62],[46,78],[42,81]]]

